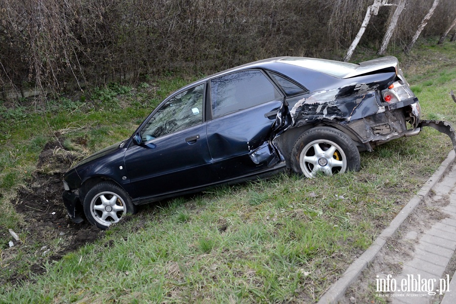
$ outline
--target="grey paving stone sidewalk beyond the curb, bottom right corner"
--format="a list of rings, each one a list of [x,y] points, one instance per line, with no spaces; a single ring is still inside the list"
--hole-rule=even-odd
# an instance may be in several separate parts
[[[434,195],[426,197],[424,203],[438,206],[449,201],[440,209],[447,217],[435,222],[420,237],[413,230],[406,234],[405,238],[417,244],[413,258],[404,262],[402,273],[391,280],[400,290],[390,294],[392,303],[427,304],[434,302],[434,292],[444,294],[441,303],[456,303],[456,276],[450,283],[452,274],[445,273],[456,250],[456,164],[435,184],[432,192]]]

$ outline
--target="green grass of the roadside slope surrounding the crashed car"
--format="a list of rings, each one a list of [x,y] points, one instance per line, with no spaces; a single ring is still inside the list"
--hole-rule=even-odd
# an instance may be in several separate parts
[[[397,55],[423,118],[454,125],[456,107],[448,95],[456,88],[454,44],[423,44],[410,57]],[[170,78],[136,89],[112,85],[85,99],[50,101],[44,118],[25,105],[0,109],[0,227],[19,229],[20,214],[11,202],[56,134],[64,135],[65,147],[91,153],[130,136],[162,98],[188,82]],[[87,141],[84,148],[81,138]],[[0,286],[0,301],[316,301],[450,149],[446,135],[425,128],[419,136],[362,153],[360,172],[316,179],[278,175],[145,206],[100,241],[45,264],[45,274]],[[0,239],[7,244],[9,237]],[[9,254],[37,259],[59,240],[47,246],[26,244]],[[0,274],[7,276],[8,261],[2,257],[0,265]],[[22,268],[29,271],[26,262]]]

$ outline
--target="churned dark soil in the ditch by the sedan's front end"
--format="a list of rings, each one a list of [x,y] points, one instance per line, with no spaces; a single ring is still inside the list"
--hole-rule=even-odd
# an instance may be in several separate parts
[[[46,144],[28,186],[18,193],[15,208],[25,222],[20,231],[16,231],[20,241],[14,241],[15,246],[2,252],[11,272],[9,278],[0,277],[0,284],[29,280],[28,272],[21,270],[24,260],[31,274],[41,274],[46,262],[59,260],[103,235],[103,231],[88,221],[77,224],[67,216],[62,201],[62,181],[75,156],[63,148],[62,142],[59,139]],[[19,251],[26,252],[21,261],[14,258]]]

